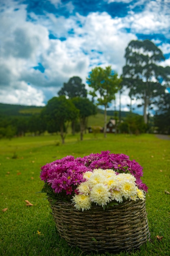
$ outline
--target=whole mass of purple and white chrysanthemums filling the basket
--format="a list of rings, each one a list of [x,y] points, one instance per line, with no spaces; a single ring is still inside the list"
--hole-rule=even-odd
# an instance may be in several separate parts
[[[42,192],[53,202],[72,202],[78,210],[93,204],[103,209],[125,200],[145,200],[143,168],[124,154],[102,151],[85,157],[66,156],[41,167]]]

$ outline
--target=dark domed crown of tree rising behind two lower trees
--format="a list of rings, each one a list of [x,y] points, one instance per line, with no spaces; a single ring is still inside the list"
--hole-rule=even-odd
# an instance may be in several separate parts
[[[73,76],[69,79],[68,83],[64,83],[58,95],[65,95],[69,99],[74,97],[87,97],[87,90],[82,83],[82,79],[79,76]]]

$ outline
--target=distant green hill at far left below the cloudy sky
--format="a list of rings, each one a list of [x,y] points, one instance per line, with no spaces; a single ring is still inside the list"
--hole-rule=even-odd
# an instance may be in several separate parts
[[[39,114],[43,107],[0,103],[0,116],[30,116]]]

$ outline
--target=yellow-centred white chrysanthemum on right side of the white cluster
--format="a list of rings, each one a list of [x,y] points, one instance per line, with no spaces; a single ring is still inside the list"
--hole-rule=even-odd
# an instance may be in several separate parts
[[[125,199],[128,199],[131,196],[134,196],[137,192],[137,187],[135,182],[131,182],[129,180],[122,181],[120,191],[122,193],[122,196],[124,196]]]

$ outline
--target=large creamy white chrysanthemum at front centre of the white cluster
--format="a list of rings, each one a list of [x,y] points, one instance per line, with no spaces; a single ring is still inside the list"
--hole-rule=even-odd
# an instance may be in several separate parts
[[[90,199],[92,200],[92,202],[95,202],[98,205],[102,205],[103,207],[108,202],[110,202],[110,195],[111,193],[107,189],[107,186],[99,183],[92,188]]]

